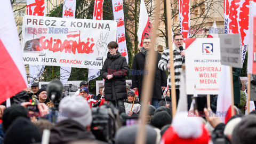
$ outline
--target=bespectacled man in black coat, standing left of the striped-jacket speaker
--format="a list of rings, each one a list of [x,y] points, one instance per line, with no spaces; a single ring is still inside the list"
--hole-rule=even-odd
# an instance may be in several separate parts
[[[144,71],[144,67],[149,66],[148,63],[148,49],[150,47],[151,39],[146,37],[142,40],[142,47],[141,52],[135,54],[134,60],[132,63],[132,88],[139,92],[139,98],[141,99],[141,92],[142,92],[142,81],[143,81],[143,75],[148,74],[148,71]],[[153,89],[153,99],[152,99],[152,105],[157,109],[159,100],[162,99],[162,90],[165,89],[167,83],[166,83],[166,72],[163,70],[160,70],[157,66],[159,60],[161,59],[161,53],[156,52],[157,54],[157,61],[155,62],[156,67],[156,74],[155,74],[155,81],[154,81],[154,89]]]

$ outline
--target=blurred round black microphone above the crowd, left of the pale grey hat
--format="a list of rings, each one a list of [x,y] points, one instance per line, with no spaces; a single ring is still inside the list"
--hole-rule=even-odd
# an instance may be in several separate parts
[[[59,100],[63,96],[63,85],[59,79],[54,79],[49,85],[47,85],[47,96],[55,104],[56,100]]]

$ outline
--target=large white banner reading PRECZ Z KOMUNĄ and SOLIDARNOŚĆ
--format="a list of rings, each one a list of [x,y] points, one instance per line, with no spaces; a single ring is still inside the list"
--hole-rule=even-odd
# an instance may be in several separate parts
[[[27,65],[101,69],[117,22],[25,15],[23,60]]]

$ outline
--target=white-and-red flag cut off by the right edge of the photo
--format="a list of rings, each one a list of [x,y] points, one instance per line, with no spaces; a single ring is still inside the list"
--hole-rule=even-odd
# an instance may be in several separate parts
[[[256,74],[256,3],[250,2],[247,73]]]

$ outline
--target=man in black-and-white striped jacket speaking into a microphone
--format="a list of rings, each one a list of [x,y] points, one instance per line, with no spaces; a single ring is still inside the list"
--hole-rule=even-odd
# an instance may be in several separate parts
[[[174,66],[174,73],[175,73],[175,89],[176,89],[176,100],[177,105],[179,101],[180,95],[180,74],[182,71],[182,64],[185,62],[185,44],[183,43],[183,35],[181,33],[175,33],[173,35],[173,44],[172,44],[172,51],[173,51],[173,66]],[[158,62],[158,68],[161,70],[168,69],[169,71],[169,78],[170,76],[170,55],[169,55],[169,47],[164,49],[162,54],[161,60]],[[171,87],[171,79],[169,79],[169,87]]]

